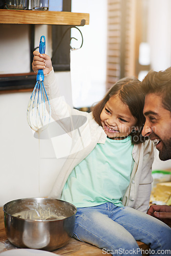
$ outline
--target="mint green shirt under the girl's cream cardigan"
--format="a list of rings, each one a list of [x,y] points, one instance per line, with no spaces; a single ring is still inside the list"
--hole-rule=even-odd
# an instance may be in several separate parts
[[[112,202],[122,205],[130,184],[134,165],[131,137],[123,140],[106,138],[72,170],[62,190],[61,200],[76,207]]]

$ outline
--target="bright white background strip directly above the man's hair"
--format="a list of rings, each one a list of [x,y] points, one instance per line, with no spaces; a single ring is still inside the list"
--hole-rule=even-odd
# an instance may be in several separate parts
[[[151,51],[151,66],[155,71],[171,66],[171,2],[170,0],[148,1],[147,38]]]

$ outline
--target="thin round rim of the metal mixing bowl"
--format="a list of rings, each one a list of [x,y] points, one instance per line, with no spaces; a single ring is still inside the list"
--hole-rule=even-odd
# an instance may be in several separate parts
[[[53,200],[56,200],[56,201],[65,202],[65,203],[67,203],[67,204],[69,204],[69,205],[71,205],[71,206],[73,206],[73,207],[75,208],[75,213],[72,214],[71,216],[66,217],[66,218],[63,218],[63,219],[61,219],[61,220],[29,220],[29,219],[23,219],[23,218],[18,218],[18,217],[16,217],[16,216],[13,216],[13,215],[9,214],[9,213],[5,210],[5,207],[7,207],[8,204],[10,204],[10,203],[12,203],[12,202],[14,202],[14,201],[17,202],[17,201],[22,201],[22,200],[27,200],[27,199],[47,199],[47,200],[53,199]],[[7,214],[8,216],[10,216],[10,217],[12,217],[12,218],[15,218],[15,219],[18,219],[18,220],[32,221],[32,222],[35,222],[35,221],[37,221],[37,222],[48,222],[48,221],[50,221],[50,222],[51,222],[51,221],[63,221],[63,220],[66,220],[66,219],[68,219],[68,218],[71,218],[72,216],[76,215],[76,213],[77,213],[77,207],[76,207],[74,204],[70,203],[70,202],[67,202],[67,201],[64,201],[64,200],[60,200],[60,199],[56,199],[56,198],[28,197],[28,198],[18,198],[18,199],[14,199],[14,200],[11,200],[11,201],[5,203],[5,204],[3,205],[3,211],[4,211],[4,216],[5,216],[5,214]]]

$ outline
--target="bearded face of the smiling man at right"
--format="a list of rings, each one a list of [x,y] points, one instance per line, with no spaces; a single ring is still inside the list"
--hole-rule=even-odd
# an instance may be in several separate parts
[[[163,108],[158,94],[145,96],[143,114],[146,120],[142,135],[149,136],[155,142],[161,160],[171,159],[171,113]]]

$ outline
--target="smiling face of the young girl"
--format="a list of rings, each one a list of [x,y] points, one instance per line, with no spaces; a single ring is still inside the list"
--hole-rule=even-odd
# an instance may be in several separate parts
[[[111,139],[124,139],[136,129],[137,119],[131,114],[129,107],[118,95],[112,96],[106,102],[101,114],[101,125],[105,134]]]

